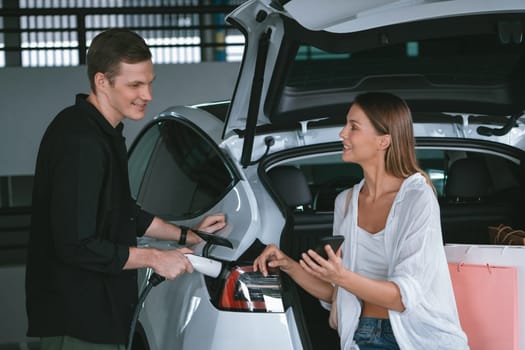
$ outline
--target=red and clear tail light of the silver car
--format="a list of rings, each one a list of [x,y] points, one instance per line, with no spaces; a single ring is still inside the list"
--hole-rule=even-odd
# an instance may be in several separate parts
[[[254,272],[252,266],[235,267],[226,279],[219,306],[249,312],[283,312],[279,270],[268,276]]]

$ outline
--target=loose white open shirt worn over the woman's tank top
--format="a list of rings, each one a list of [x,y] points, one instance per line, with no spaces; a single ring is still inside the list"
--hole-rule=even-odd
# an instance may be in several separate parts
[[[338,195],[334,210],[334,232],[345,236],[343,264],[355,271],[357,254],[357,199],[362,180]],[[346,196],[352,198],[343,217]],[[425,178],[416,173],[405,179],[397,193],[385,226],[387,280],[397,284],[405,306],[403,312],[389,310],[396,340],[401,349],[468,349],[462,331],[448,271],[439,204]],[[338,331],[341,348],[358,349],[353,341],[361,303],[352,293],[339,288]]]

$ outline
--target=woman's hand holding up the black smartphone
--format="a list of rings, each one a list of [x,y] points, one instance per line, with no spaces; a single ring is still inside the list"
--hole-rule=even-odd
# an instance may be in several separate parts
[[[335,253],[329,244],[325,245],[328,259],[324,259],[314,250],[309,249],[301,255],[302,259],[299,261],[299,264],[312,276],[325,282],[338,285],[345,271],[343,260],[341,259],[341,250],[342,247],[339,247],[337,253]]]

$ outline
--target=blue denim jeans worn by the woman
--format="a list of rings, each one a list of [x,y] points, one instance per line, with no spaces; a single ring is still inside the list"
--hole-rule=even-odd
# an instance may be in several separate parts
[[[387,318],[361,317],[354,340],[360,350],[399,350],[390,320]]]

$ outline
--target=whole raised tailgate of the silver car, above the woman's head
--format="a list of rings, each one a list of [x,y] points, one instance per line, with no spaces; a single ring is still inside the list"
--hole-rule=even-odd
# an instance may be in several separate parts
[[[326,118],[389,91],[419,112],[522,115],[525,1],[251,0],[224,134]]]

